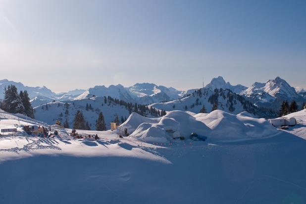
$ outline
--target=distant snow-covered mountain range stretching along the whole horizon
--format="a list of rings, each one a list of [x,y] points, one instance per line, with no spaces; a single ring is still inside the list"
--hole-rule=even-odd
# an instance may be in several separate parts
[[[18,91],[28,91],[33,107],[53,101],[81,100],[94,96],[110,96],[113,99],[118,99],[125,102],[153,104],[186,98],[199,91],[199,89],[178,91],[172,87],[167,88],[150,83],[138,83],[127,88],[124,88],[119,84],[116,86],[110,85],[109,87],[95,86],[94,88],[89,88],[86,91],[76,89],[67,93],[55,94],[46,87],[27,87],[21,83],[8,81],[6,79],[0,81],[0,88],[4,89],[5,86],[7,87],[11,84],[15,85]],[[232,86],[229,82],[225,82],[225,80],[219,76],[217,78],[213,78],[211,82],[204,87],[204,89],[210,90],[210,94],[215,89],[228,89],[233,93],[246,97],[248,101],[252,102],[258,107],[272,108],[274,111],[279,110],[280,104],[285,100],[288,102],[295,100],[298,102],[299,106],[301,106],[302,103],[306,101],[306,92],[300,92],[298,94],[293,87],[291,87],[285,80],[279,77],[276,77],[274,80],[268,80],[265,83],[255,82],[251,87],[247,88],[240,84]],[[1,97],[2,99],[4,98],[3,93],[0,92],[0,99]],[[195,102],[186,105],[188,107],[193,103]],[[228,102],[226,103],[228,104]],[[226,103],[222,104],[225,105]],[[210,109],[209,104],[207,104],[207,108]],[[198,109],[195,110],[195,112],[197,111]]]

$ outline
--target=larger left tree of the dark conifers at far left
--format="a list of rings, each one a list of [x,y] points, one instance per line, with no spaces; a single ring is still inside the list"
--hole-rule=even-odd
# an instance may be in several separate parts
[[[4,88],[4,100],[2,102],[2,109],[9,113],[25,113],[21,98],[14,85]]]

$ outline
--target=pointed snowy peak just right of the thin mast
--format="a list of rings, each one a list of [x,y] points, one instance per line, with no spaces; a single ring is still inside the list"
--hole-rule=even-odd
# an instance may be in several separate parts
[[[241,84],[236,86],[232,86],[229,82],[225,82],[223,77],[219,76],[218,78],[213,78],[209,84],[207,84],[204,88],[210,89],[213,91],[214,89],[230,89],[232,92],[239,94],[243,90],[246,90],[248,87],[245,87]]]

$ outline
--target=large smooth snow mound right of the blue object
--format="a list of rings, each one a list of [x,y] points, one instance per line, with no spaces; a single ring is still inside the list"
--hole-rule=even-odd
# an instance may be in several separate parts
[[[278,133],[269,121],[264,118],[253,118],[247,112],[234,115],[215,110],[206,116],[197,116],[198,120],[212,130],[212,141],[262,138]]]

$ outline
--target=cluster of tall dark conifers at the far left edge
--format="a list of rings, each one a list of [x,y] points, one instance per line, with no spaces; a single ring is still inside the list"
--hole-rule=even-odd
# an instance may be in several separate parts
[[[35,118],[28,92],[25,90],[18,94],[14,85],[4,88],[4,100],[1,102],[1,109],[9,113],[21,113],[30,118]]]

